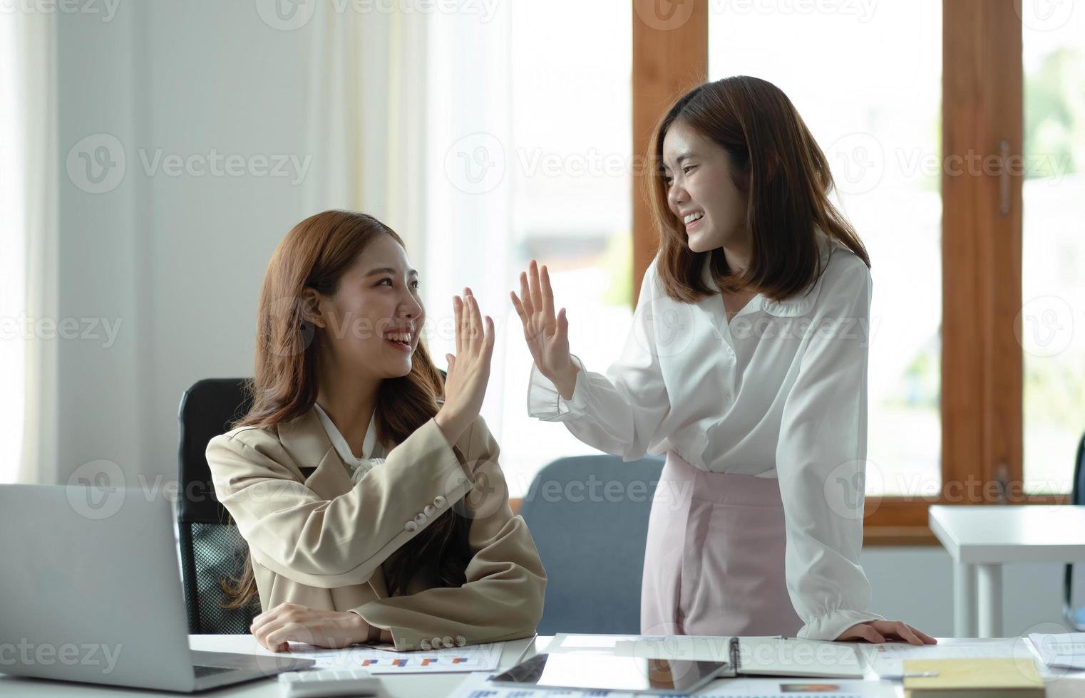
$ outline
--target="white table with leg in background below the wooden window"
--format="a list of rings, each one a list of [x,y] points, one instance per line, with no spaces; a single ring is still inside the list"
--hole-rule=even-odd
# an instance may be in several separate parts
[[[953,556],[958,637],[1003,635],[1004,564],[1085,563],[1085,506],[933,505],[929,521]]]

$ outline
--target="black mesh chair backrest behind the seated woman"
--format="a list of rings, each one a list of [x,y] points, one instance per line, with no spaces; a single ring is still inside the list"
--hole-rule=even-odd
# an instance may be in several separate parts
[[[210,467],[204,451],[214,437],[230,430],[230,424],[248,411],[245,378],[207,378],[196,382],[181,396],[180,421],[181,496],[177,503],[181,572],[189,632],[245,634],[260,612],[259,600],[240,609],[226,609],[229,597],[219,581],[241,576],[248,545],[215,496]]]

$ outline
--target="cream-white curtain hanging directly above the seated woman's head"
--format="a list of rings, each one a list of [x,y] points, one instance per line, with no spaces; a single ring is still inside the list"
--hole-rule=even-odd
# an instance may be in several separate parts
[[[425,244],[425,39],[421,13],[355,12],[320,3],[305,27],[305,95],[314,172],[309,214],[348,208],[399,233],[412,258]]]

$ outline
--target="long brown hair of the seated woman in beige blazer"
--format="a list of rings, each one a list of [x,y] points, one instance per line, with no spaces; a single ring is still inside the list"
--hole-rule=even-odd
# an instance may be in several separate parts
[[[329,210],[295,225],[276,248],[264,276],[256,312],[255,374],[250,384],[252,408],[232,426],[275,427],[296,419],[317,401],[317,366],[323,329],[303,323],[302,292],[314,288],[330,296],[343,274],[378,235],[404,242],[372,216]],[[399,443],[431,419],[444,395],[444,378],[420,340],[411,371],[381,382],[374,411],[376,437]],[[437,517],[404,544],[383,565],[388,593],[407,593],[417,576],[437,586],[459,586],[467,581],[470,521],[452,508]],[[222,589],[232,597],[227,608],[238,608],[258,596],[252,558],[240,579]]]

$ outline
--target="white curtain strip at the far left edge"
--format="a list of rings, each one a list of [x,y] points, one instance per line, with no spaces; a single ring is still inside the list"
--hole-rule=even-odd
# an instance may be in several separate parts
[[[0,481],[54,483],[55,15],[0,15]]]

